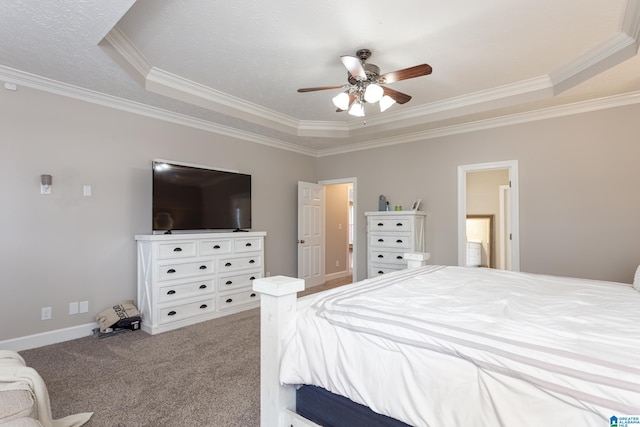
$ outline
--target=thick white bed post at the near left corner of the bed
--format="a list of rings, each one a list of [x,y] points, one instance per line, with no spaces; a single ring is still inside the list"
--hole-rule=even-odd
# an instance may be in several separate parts
[[[295,412],[294,387],[280,385],[283,343],[295,327],[296,293],[304,290],[304,279],[285,276],[253,281],[260,292],[260,425],[283,425],[286,410]]]

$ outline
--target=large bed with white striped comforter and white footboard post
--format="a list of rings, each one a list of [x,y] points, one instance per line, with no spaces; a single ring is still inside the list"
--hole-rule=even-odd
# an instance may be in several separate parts
[[[417,265],[299,300],[301,279],[255,281],[263,427],[324,424],[296,413],[304,384],[412,426],[640,425],[631,285]]]

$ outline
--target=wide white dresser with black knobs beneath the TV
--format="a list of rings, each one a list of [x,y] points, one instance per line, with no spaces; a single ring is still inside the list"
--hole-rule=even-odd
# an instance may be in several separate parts
[[[138,235],[138,310],[157,334],[258,307],[265,232]]]

